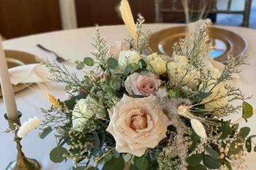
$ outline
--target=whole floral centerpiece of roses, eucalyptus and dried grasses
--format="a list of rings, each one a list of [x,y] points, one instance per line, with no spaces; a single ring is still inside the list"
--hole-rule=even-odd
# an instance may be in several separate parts
[[[142,30],[141,16],[133,22],[126,0],[121,13],[132,38],[108,45],[97,29],[93,57],[76,61],[77,70],[92,67],[81,79],[46,63],[68,94],[65,101],[48,94],[52,107],[42,109],[40,137],[55,129],[58,141],[51,160],[72,159],[73,169],[243,169],[255,135],[225,117],[253,114],[249,97],[227,82],[244,57],[215,68],[209,22],[177,42],[172,56],[154,53],[151,32]]]

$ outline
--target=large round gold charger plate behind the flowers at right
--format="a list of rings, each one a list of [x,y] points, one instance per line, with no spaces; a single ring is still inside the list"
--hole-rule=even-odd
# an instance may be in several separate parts
[[[174,52],[172,46],[184,38],[187,33],[187,26],[172,27],[155,32],[150,37],[150,48],[160,54],[172,56]],[[209,27],[209,36],[213,40],[214,47],[210,57],[216,61],[225,63],[228,55],[231,54],[237,58],[246,52],[247,42],[237,33],[227,29]]]

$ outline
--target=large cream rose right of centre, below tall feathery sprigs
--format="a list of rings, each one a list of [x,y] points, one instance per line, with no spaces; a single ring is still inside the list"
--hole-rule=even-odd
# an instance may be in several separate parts
[[[179,84],[186,85],[194,90],[199,84],[199,71],[193,69],[187,72],[187,68],[193,66],[188,64],[188,59],[185,56],[176,56],[173,62],[167,64],[168,78],[171,86],[177,86]]]

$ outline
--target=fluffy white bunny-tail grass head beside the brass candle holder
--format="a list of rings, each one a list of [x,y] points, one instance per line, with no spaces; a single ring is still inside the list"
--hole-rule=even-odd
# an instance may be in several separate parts
[[[38,128],[41,124],[41,120],[38,117],[29,118],[18,130],[18,137],[22,138],[26,136],[30,131]]]

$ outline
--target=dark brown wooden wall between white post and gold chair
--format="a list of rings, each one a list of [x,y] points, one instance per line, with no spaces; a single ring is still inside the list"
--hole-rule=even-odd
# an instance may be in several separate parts
[[[95,24],[123,24],[118,15],[120,0],[76,0],[77,24],[88,27]],[[155,22],[154,0],[129,0],[134,18],[140,12],[147,23]]]

